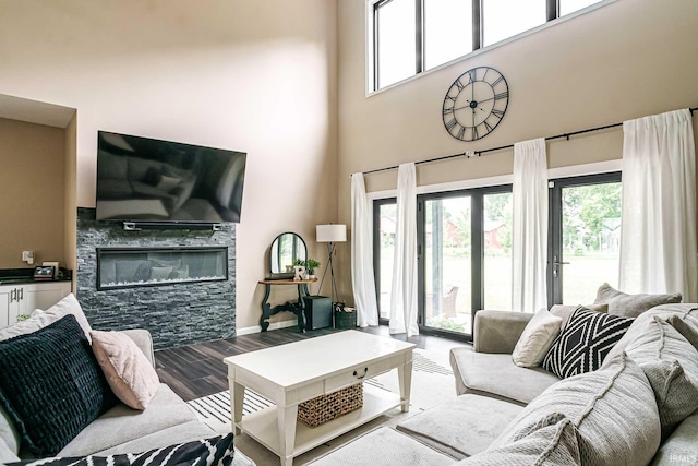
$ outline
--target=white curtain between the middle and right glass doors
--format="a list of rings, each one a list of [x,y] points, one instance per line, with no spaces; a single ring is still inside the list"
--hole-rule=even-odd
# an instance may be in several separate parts
[[[547,163],[545,140],[514,144],[512,309],[547,308]]]

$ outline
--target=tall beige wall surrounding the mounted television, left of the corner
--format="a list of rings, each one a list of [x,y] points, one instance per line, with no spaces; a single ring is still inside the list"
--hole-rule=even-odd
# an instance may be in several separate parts
[[[94,206],[98,130],[248,152],[237,323],[256,325],[272,240],[296,231],[322,258],[314,227],[336,220],[335,2],[0,4],[0,93],[77,109],[77,206]]]

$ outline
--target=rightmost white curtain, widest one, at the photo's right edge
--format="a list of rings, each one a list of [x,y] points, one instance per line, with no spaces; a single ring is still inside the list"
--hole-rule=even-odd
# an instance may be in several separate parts
[[[698,300],[696,148],[687,109],[623,123],[619,288]]]

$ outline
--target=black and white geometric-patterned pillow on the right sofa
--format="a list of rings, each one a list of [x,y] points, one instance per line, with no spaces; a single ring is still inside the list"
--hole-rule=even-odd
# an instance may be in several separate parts
[[[634,319],[577,308],[543,359],[543,369],[561,379],[595,371]]]

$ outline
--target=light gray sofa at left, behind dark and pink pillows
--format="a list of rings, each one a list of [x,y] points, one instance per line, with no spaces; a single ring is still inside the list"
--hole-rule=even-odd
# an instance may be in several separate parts
[[[59,304],[55,307],[56,309],[51,308],[31,321],[1,330],[0,340],[39,330],[68,313],[75,315],[81,325],[88,325],[73,295],[69,295]],[[136,344],[155,367],[149,332],[129,330],[122,333]],[[216,435],[218,434],[208,426],[197,420],[182,398],[168,385],[161,383],[145,410],[135,410],[118,403],[82,430],[58,453],[58,456],[82,457],[139,453]],[[31,457],[32,454],[22,445],[11,417],[0,407],[0,464]],[[236,451],[234,465],[249,466],[254,463]]]

